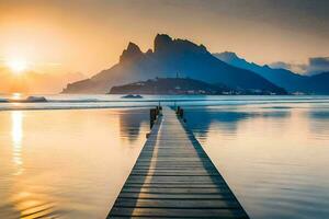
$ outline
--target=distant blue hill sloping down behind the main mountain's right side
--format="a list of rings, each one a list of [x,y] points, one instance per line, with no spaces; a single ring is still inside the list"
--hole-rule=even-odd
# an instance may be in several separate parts
[[[225,61],[231,66],[257,72],[272,83],[286,89],[288,92],[329,94],[329,80],[328,77],[326,77],[328,73],[302,76],[286,69],[273,69],[266,65],[259,66],[253,62],[248,62],[243,58],[240,58],[235,53],[230,51],[213,55],[219,60]]]

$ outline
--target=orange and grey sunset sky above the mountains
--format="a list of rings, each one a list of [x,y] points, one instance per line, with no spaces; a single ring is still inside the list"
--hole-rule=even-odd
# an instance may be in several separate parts
[[[129,41],[152,47],[157,33],[258,64],[306,65],[329,56],[328,10],[327,0],[0,0],[0,71],[90,77]]]

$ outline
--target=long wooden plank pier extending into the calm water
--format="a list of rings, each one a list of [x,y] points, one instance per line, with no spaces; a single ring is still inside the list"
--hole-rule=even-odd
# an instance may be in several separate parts
[[[107,218],[248,218],[174,111],[162,114]]]

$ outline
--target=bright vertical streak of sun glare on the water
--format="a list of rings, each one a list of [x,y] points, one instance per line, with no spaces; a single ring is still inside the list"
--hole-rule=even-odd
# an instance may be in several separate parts
[[[13,111],[11,113],[12,128],[12,161],[15,166],[14,175],[20,175],[23,172],[22,160],[22,138],[23,138],[23,112]]]

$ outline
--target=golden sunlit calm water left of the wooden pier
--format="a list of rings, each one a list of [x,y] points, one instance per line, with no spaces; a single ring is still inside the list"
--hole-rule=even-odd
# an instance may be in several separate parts
[[[148,116],[0,112],[0,219],[105,218],[145,142]]]

